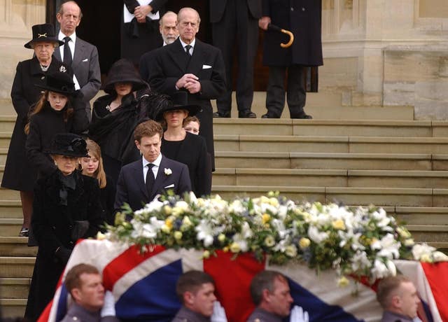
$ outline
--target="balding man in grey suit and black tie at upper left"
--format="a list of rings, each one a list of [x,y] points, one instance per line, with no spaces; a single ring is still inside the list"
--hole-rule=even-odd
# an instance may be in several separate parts
[[[101,87],[98,50],[94,45],[76,36],[76,27],[83,18],[83,13],[75,1],[62,3],[56,18],[61,25],[58,38],[65,44],[59,46],[54,55],[73,69],[73,82],[76,89],[83,94],[85,111],[87,117],[91,120],[90,99],[97,94],[99,87]]]

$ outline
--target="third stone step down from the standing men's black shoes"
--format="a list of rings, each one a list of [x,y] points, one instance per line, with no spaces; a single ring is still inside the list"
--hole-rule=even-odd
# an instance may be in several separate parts
[[[262,169],[448,170],[448,155],[216,151],[216,167]]]

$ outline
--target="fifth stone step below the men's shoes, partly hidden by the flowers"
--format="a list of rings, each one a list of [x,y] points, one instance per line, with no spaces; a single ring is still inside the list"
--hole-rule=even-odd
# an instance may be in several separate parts
[[[429,188],[342,188],[305,186],[213,186],[212,193],[224,198],[256,197],[268,191],[279,191],[292,200],[337,202],[376,206],[447,207],[448,189]]]

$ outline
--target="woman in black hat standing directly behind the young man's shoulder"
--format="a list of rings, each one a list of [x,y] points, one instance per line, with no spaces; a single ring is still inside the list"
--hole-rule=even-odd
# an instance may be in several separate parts
[[[195,195],[210,195],[211,165],[205,140],[182,127],[183,120],[194,116],[200,111],[200,106],[188,105],[186,92],[172,95],[172,101],[167,98],[161,100],[159,106],[155,119],[165,121],[167,128],[162,137],[162,154],[188,166]]]

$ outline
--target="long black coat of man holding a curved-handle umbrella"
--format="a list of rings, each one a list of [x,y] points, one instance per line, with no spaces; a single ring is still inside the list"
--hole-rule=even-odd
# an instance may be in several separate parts
[[[278,31],[266,31],[263,64],[290,66],[300,64],[321,66],[321,0],[263,0],[262,15],[271,18],[272,25],[288,29],[294,34],[289,48],[281,48],[289,37]]]

